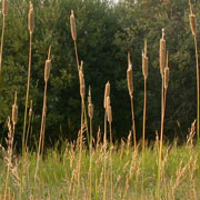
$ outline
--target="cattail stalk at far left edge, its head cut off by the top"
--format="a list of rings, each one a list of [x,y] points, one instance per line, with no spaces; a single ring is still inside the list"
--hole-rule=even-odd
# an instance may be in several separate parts
[[[2,70],[2,51],[3,51],[3,39],[4,39],[4,23],[6,23],[6,16],[8,11],[8,1],[2,0],[2,32],[1,32],[1,47],[0,47],[0,82],[1,82],[1,70]]]

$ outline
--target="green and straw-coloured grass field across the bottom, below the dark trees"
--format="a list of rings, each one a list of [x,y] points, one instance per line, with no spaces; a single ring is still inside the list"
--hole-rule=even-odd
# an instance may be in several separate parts
[[[113,148],[96,143],[91,152],[91,170],[90,151],[83,146],[80,171],[79,146],[66,142],[61,149],[61,151],[51,149],[46,153],[43,160],[39,162],[37,178],[36,153],[29,152],[24,157],[23,164],[21,158],[13,158],[10,163],[7,199],[90,199],[90,190],[91,199],[103,199],[103,194],[106,199],[141,199],[142,196],[143,199],[157,199],[159,153],[157,143],[146,148],[143,168],[142,151],[133,150],[129,142],[121,142]],[[1,153],[3,158],[0,160],[0,199],[3,199],[9,156],[3,150]],[[198,144],[193,147],[190,142],[181,147],[176,142],[163,147],[161,199],[200,198],[199,154],[200,147]]]

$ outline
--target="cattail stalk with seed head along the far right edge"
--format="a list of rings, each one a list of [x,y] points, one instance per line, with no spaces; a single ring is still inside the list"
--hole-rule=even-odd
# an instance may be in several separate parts
[[[192,4],[191,0],[189,0],[189,6],[190,6],[190,28],[191,32],[194,39],[194,46],[196,46],[196,63],[197,63],[197,138],[199,141],[199,118],[200,118],[200,78],[199,78],[199,47],[198,47],[198,37],[197,37],[197,28],[196,28],[196,16],[193,14],[192,11]]]

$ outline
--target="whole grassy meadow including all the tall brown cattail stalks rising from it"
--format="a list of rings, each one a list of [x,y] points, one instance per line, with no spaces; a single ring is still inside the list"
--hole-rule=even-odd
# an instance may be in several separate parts
[[[159,48],[160,66],[160,130],[156,139],[148,140],[147,106],[148,106],[148,66],[149,48],[144,40],[142,50],[143,76],[143,114],[142,134],[137,137],[133,67],[131,52],[128,51],[127,90],[130,98],[131,126],[127,138],[113,139],[113,107],[111,83],[104,86],[102,106],[104,111],[103,128],[93,130],[94,106],[92,86],[86,84],[84,62],[79,60],[78,33],[76,13],[71,10],[69,22],[71,38],[74,44],[74,57],[79,78],[80,92],[80,129],[76,140],[59,140],[53,147],[46,147],[48,83],[51,73],[51,51],[49,46],[44,62],[44,89],[39,138],[36,148],[29,147],[31,132],[32,101],[30,99],[30,81],[32,69],[32,39],[34,37],[34,9],[29,2],[28,31],[29,59],[27,73],[27,92],[21,133],[21,151],[16,148],[16,126],[18,123],[18,91],[14,92],[11,117],[7,119],[6,142],[0,144],[0,200],[12,199],[164,199],[164,200],[198,200],[200,199],[200,141],[199,141],[199,54],[196,16],[190,6],[191,37],[194,40],[197,62],[197,119],[188,129],[186,142],[179,139],[168,142],[164,140],[164,118],[168,104],[168,84],[170,81],[170,52],[167,49],[166,29],[161,30]],[[2,34],[0,48],[0,78],[3,79],[3,39],[8,2],[2,0]],[[74,64],[76,66],[76,64]],[[124,71],[126,73],[126,71]],[[2,80],[1,80],[2,81]],[[0,86],[1,87],[1,86]],[[89,89],[87,89],[89,88]]]

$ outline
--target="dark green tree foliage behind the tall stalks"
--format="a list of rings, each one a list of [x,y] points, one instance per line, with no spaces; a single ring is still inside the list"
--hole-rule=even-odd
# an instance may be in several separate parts
[[[94,134],[103,131],[104,84],[111,83],[113,138],[127,138],[131,129],[130,99],[127,89],[127,52],[133,63],[134,110],[137,137],[142,132],[143,77],[141,51],[148,40],[149,77],[147,137],[154,139],[160,129],[161,78],[159,42],[166,28],[170,60],[170,83],[166,112],[166,138],[186,139],[196,119],[196,58],[189,27],[187,0],[33,0],[36,29],[33,32],[30,99],[33,100],[30,143],[39,138],[43,70],[48,48],[52,46],[52,69],[48,84],[47,144],[77,138],[80,129],[79,79],[76,67],[69,16],[76,13],[79,57],[84,61],[84,77],[92,88]],[[193,1],[199,28],[199,4]],[[18,91],[19,120],[16,141],[21,142],[24,113],[29,32],[28,0],[10,0],[0,84],[0,137],[7,134],[7,117],[11,114],[14,90]]]

